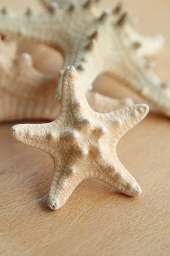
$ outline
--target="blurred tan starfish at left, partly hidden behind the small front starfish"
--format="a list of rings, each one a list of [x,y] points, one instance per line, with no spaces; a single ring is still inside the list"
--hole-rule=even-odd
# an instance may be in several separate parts
[[[55,100],[57,80],[35,70],[28,53],[18,55],[15,40],[0,40],[0,77],[0,122],[57,118],[61,109]],[[133,105],[129,98],[116,100],[95,92],[86,97],[91,108],[102,113]]]

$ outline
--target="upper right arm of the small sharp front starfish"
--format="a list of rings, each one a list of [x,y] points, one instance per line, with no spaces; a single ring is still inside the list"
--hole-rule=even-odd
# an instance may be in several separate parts
[[[106,123],[108,122],[108,128],[111,127],[111,133],[115,143],[118,143],[119,139],[127,133],[131,128],[137,125],[147,115],[149,107],[146,104],[136,104],[128,108],[108,113],[107,116],[100,114],[100,119]],[[108,121],[107,121],[108,119]],[[111,148],[113,141],[111,143]]]

